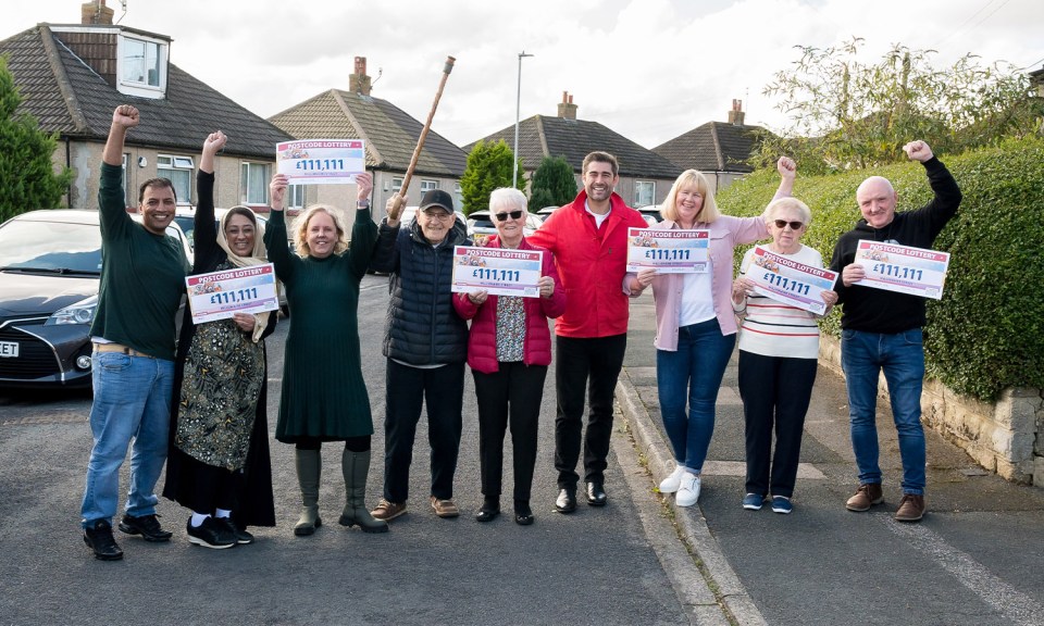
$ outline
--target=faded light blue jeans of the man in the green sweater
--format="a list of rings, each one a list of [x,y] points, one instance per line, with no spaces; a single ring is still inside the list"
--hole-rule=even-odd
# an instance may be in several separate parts
[[[174,387],[173,361],[119,352],[95,352],[90,361],[95,391],[90,431],[95,447],[80,508],[84,527],[97,519],[112,523],[120,496],[120,466],[132,439],[125,512],[136,517],[156,513],[153,488],[166,461]]]

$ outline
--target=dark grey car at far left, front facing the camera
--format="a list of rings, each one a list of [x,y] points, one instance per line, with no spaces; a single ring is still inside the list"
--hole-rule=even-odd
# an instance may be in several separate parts
[[[166,233],[191,261],[177,224]],[[100,278],[97,211],[29,211],[0,224],[0,387],[90,386]]]

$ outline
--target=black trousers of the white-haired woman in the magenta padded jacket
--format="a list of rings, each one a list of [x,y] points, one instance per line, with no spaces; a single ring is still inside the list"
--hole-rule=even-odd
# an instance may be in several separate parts
[[[483,374],[472,370],[478,401],[478,464],[482,493],[500,496],[504,477],[504,435],[511,426],[511,454],[514,460],[514,499],[530,500],[536,441],[544,398],[546,365],[525,365],[521,361],[499,363],[497,372]]]

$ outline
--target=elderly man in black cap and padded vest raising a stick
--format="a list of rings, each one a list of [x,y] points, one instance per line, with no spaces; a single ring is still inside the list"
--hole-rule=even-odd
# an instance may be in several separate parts
[[[391,298],[384,334],[387,356],[384,418],[384,498],[378,519],[406,513],[413,437],[427,402],[432,445],[431,505],[439,517],[460,514],[453,503],[453,474],[460,448],[468,325],[452,304],[453,246],[470,245],[449,193],[424,193],[417,217],[400,227],[406,198],[388,200],[371,270],[390,274]]]

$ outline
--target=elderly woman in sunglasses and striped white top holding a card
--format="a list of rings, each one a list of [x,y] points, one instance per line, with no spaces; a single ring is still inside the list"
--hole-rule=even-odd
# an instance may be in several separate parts
[[[798,263],[823,266],[812,248],[801,245],[801,235],[812,221],[808,206],[795,198],[780,198],[766,209],[772,242],[768,249]],[[741,270],[754,262],[754,250],[743,258]],[[772,511],[790,513],[801,453],[801,433],[816,381],[819,356],[817,315],[782,304],[758,293],[741,276],[733,284],[732,303],[743,316],[739,329],[739,396],[746,422],[747,484],[743,508],[761,509],[772,497]],[[829,306],[837,293],[823,291]],[[775,430],[775,452],[772,431]]]

